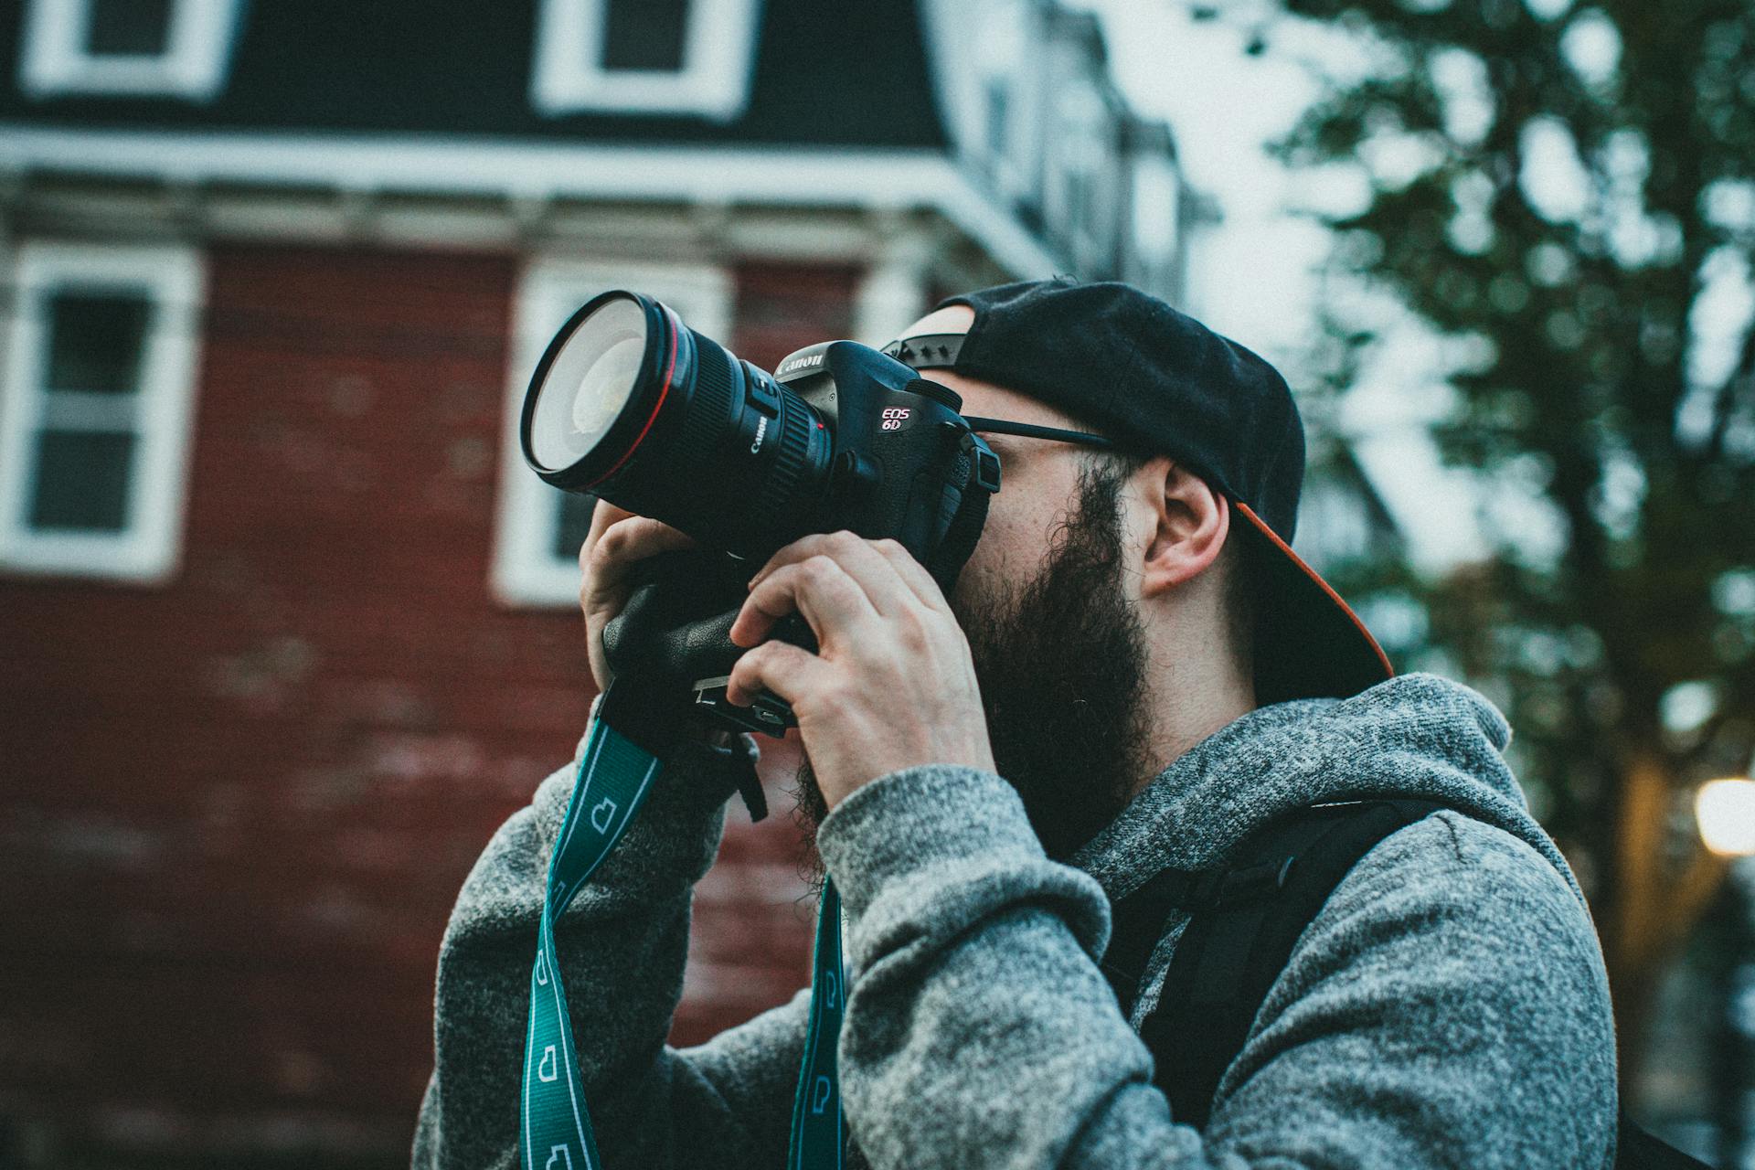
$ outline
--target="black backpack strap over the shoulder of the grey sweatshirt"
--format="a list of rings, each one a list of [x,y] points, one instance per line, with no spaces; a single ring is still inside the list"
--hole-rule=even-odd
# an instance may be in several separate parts
[[[1243,1049],[1267,989],[1353,863],[1395,830],[1444,807],[1429,800],[1365,800],[1299,809],[1246,838],[1221,870],[1178,874],[1164,882],[1153,912],[1167,914],[1174,903],[1165,902],[1181,896],[1193,917],[1139,1035],[1157,1059],[1153,1081],[1171,1098],[1172,1117],[1206,1126],[1220,1077]],[[1164,933],[1164,917],[1157,930],[1139,930],[1148,912],[1144,903],[1139,910],[1128,907],[1130,900],[1116,907],[1111,952],[1118,967],[1137,963],[1143,970]],[[1123,940],[1123,926],[1135,933]],[[1123,998],[1125,1009],[1134,995],[1137,988]]]

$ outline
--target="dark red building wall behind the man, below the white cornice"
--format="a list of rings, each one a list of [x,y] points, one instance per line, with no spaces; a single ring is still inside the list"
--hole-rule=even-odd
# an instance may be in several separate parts
[[[488,593],[516,258],[207,261],[181,572],[0,577],[0,1161],[402,1161],[451,902],[590,702],[577,610]],[[735,274],[744,356],[848,333],[858,272]],[[677,1042],[807,979],[783,756]]]

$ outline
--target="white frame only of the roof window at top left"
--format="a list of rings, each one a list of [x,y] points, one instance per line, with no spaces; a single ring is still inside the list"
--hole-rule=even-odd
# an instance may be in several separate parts
[[[86,51],[93,0],[28,0],[19,88],[32,98],[137,95],[207,102],[225,86],[239,0],[172,0],[165,53]]]

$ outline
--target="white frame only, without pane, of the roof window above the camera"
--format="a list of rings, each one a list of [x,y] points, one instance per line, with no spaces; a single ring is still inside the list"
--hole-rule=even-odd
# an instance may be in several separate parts
[[[539,112],[698,114],[718,121],[744,112],[760,0],[693,0],[683,68],[674,72],[602,67],[611,2],[542,0],[530,75],[530,103]]]

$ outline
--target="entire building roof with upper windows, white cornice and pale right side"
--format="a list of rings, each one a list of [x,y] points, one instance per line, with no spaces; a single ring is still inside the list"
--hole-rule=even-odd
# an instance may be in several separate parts
[[[1062,0],[128,4],[0,4],[0,175],[920,207],[1018,275],[1181,284],[1169,130]]]

